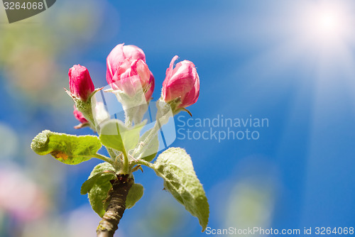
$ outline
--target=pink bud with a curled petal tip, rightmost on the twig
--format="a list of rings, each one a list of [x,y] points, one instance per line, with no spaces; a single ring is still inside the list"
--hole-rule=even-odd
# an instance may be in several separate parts
[[[200,78],[195,65],[188,60],[178,62],[173,68],[177,59],[178,56],[173,57],[166,70],[162,96],[165,102],[180,98],[180,104],[176,107],[180,109],[195,104],[197,101],[200,94]]]

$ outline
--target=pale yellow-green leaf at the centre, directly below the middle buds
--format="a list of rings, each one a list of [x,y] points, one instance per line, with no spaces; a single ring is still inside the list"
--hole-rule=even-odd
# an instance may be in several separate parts
[[[127,154],[138,144],[139,133],[145,123],[146,121],[143,121],[132,128],[127,128],[122,121],[111,119],[101,126],[99,138],[102,144]]]

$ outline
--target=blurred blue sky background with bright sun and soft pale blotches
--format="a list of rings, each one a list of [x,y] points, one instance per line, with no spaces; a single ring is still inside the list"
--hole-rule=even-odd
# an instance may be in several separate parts
[[[269,119],[258,140],[173,143],[192,156],[211,228],[354,226],[354,1],[58,0],[18,23],[0,14],[0,236],[95,236],[80,186],[99,161],[64,165],[30,144],[44,129],[92,133],[73,128],[67,71],[106,86],[119,43],[146,53],[156,99],[179,55],[200,75],[194,118]],[[136,181],[145,194],[117,236],[206,236],[154,172]]]

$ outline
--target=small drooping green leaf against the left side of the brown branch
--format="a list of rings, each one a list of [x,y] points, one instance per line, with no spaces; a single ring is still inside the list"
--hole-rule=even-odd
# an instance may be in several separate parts
[[[82,184],[82,190],[81,190],[81,193],[84,193],[87,191],[87,189],[89,189],[88,191],[89,202],[92,206],[92,209],[101,217],[104,216],[106,212],[106,208],[104,206],[104,200],[107,199],[109,190],[112,187],[112,184],[109,181],[114,179],[113,174],[100,175],[104,173],[106,170],[114,171],[114,167],[112,167],[108,162],[103,162],[95,166],[94,170],[92,170],[89,176],[89,179],[86,181],[88,183],[85,184],[84,182],[84,184]]]

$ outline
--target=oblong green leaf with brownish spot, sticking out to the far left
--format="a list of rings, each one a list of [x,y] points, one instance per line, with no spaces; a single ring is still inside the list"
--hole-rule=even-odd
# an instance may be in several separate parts
[[[32,150],[38,155],[53,155],[60,162],[77,165],[90,160],[102,147],[97,136],[73,136],[45,130],[33,138]]]

